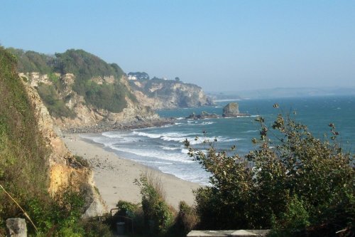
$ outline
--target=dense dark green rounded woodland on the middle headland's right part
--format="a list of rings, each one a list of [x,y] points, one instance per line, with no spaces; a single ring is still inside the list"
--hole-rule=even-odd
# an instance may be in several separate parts
[[[76,76],[73,90],[83,95],[89,104],[111,112],[121,112],[127,107],[126,96],[133,102],[136,98],[129,92],[126,85],[120,82],[124,72],[116,64],[105,63],[97,56],[82,50],[68,50],[65,53],[56,53],[55,71],[65,74],[73,73]],[[114,83],[99,85],[92,78],[113,75]]]

